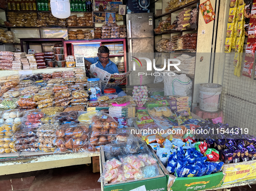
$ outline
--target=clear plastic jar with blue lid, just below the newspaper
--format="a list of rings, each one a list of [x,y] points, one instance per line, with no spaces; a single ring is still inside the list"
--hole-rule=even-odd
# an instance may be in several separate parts
[[[89,101],[97,101],[97,97],[101,95],[100,78],[87,79],[87,90],[89,93]]]

